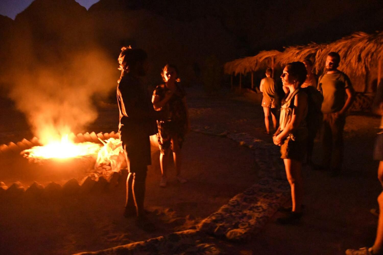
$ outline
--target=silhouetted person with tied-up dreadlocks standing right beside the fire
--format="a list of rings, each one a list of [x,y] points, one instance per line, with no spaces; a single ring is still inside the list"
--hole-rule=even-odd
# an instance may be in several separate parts
[[[154,226],[144,215],[145,180],[151,164],[149,136],[156,133],[156,125],[150,95],[141,81],[148,69],[147,54],[141,49],[123,47],[118,62],[118,129],[129,171],[124,216],[136,216],[137,225],[149,231]]]

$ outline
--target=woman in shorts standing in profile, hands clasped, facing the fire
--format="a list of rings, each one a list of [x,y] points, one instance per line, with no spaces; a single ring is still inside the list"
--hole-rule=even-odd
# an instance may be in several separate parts
[[[275,145],[281,146],[281,158],[285,164],[287,180],[291,187],[292,207],[285,217],[278,218],[281,224],[296,223],[302,216],[303,180],[302,161],[307,145],[307,95],[300,87],[306,80],[306,67],[302,62],[288,63],[281,75],[282,83],[290,91],[283,101],[279,128],[273,136]]]

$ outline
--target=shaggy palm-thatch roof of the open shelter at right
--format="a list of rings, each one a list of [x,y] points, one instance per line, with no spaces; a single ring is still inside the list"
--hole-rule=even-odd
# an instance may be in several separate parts
[[[324,69],[327,54],[338,52],[341,57],[339,69],[354,75],[366,75],[377,65],[378,60],[383,60],[383,32],[366,34],[356,32],[329,44],[315,44],[291,46],[283,52],[277,50],[261,51],[254,57],[245,57],[225,64],[227,74],[247,73],[265,67],[272,67],[271,58],[274,58],[274,67],[283,67],[289,62],[302,61],[309,55],[315,55],[314,68],[316,72]]]

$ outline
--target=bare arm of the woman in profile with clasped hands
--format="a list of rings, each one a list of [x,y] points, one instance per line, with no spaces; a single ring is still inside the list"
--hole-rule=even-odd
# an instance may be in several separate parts
[[[274,143],[280,144],[281,141],[286,138],[288,135],[290,135],[296,128],[299,127],[304,111],[307,108],[307,95],[304,93],[298,93],[296,95],[294,100],[294,109],[293,109],[293,115],[291,116],[290,122],[286,125],[285,129],[277,136],[275,136]]]

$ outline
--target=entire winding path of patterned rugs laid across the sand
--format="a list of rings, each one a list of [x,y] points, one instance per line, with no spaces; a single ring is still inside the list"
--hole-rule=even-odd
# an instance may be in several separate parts
[[[201,126],[193,126],[192,130],[206,135],[227,136],[252,149],[258,174],[264,178],[203,219],[196,226],[197,230],[174,232],[142,242],[78,254],[222,254],[213,244],[213,237],[232,241],[247,240],[265,226],[290,194],[279,147],[247,133],[229,133]]]

